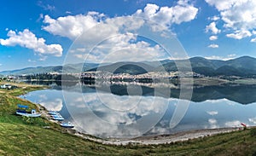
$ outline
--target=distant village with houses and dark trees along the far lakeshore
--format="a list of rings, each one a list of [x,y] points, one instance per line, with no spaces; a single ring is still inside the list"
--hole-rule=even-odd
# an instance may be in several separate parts
[[[82,73],[65,73],[60,72],[47,72],[38,74],[22,74],[16,76],[2,76],[1,79],[6,81],[17,80],[68,80],[63,75],[72,76],[73,80],[104,80],[104,81],[126,81],[126,82],[145,82],[150,83],[152,79],[172,79],[172,78],[204,78],[205,76],[195,72],[147,72],[143,74],[132,75],[129,73],[111,73],[111,72],[82,72]],[[61,79],[61,76],[63,77]]]

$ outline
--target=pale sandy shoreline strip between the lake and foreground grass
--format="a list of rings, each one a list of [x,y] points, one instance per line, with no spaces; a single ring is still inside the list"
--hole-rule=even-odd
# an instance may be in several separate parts
[[[249,129],[249,128],[248,128]],[[218,128],[218,129],[202,129],[202,130],[187,130],[182,132],[177,132],[169,135],[154,135],[154,136],[138,136],[136,138],[111,138],[111,139],[101,139],[94,138],[93,136],[88,136],[77,130],[74,130],[73,135],[82,137],[84,139],[90,140],[92,142],[98,142],[105,145],[162,145],[166,143],[174,142],[187,142],[189,140],[215,136],[218,134],[230,133],[233,131],[243,130],[241,127],[231,127],[231,128]]]

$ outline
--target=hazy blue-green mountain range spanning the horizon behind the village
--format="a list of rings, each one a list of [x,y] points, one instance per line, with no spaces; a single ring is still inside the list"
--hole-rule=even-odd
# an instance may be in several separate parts
[[[65,72],[82,71],[104,71],[113,73],[130,73],[141,74],[145,72],[154,72],[165,69],[166,72],[177,71],[179,67],[186,68],[187,62],[190,61],[192,71],[206,76],[253,76],[256,75],[256,59],[250,56],[241,56],[239,58],[220,61],[208,60],[203,57],[192,57],[189,60],[164,60],[164,61],[143,61],[143,62],[116,62],[99,65],[97,63],[79,63],[65,65]],[[82,69],[81,69],[82,67]],[[21,75],[36,74],[45,72],[62,72],[63,66],[38,66],[28,67],[13,71],[0,72],[2,75]]]

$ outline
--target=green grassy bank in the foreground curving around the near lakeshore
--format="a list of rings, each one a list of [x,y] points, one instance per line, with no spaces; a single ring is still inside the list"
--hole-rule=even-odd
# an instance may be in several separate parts
[[[19,84],[0,90],[0,155],[256,155],[256,129],[157,146],[115,146],[73,136],[45,118],[16,116],[17,103],[36,106],[15,95],[43,88]]]

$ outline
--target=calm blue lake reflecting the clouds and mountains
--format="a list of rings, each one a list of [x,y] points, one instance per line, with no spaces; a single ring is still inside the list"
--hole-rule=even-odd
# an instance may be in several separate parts
[[[33,91],[26,99],[103,138],[256,125],[256,85],[197,87],[191,99],[178,99],[177,88],[162,94],[155,86],[137,84],[48,85],[51,89]]]

